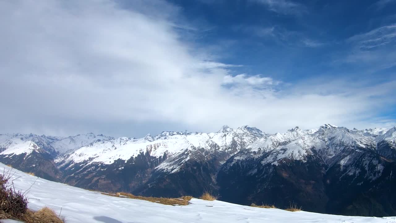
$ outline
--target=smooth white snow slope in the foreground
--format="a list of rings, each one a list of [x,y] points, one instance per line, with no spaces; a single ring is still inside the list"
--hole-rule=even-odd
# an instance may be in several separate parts
[[[144,200],[117,198],[47,181],[0,163],[12,171],[15,189],[28,193],[34,211],[52,208],[65,223],[396,223],[396,217],[356,217],[306,211],[252,208],[221,201],[192,199],[187,206],[169,206]],[[3,220],[2,220],[3,221]],[[9,221],[4,221],[5,223]]]

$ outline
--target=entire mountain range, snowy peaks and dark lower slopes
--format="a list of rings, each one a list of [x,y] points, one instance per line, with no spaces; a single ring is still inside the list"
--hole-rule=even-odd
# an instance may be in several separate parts
[[[166,197],[209,190],[237,204],[294,203],[343,215],[396,215],[395,160],[396,127],[326,124],[267,134],[223,126],[216,133],[143,138],[0,135],[0,162],[72,186]]]

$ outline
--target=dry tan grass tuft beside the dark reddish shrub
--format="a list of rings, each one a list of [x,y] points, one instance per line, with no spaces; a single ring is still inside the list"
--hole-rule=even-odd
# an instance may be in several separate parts
[[[21,220],[26,223],[63,223],[55,211],[48,207],[44,207],[36,212],[28,210],[21,216]]]

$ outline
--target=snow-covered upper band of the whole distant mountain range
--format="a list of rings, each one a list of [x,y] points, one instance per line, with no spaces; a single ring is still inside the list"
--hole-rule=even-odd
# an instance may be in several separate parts
[[[295,142],[295,145],[299,147],[295,146],[295,149],[305,153],[306,148],[315,148],[320,153],[326,153],[326,155],[324,154],[325,159],[331,159],[339,152],[340,144],[348,146],[358,144],[362,148],[367,146],[373,149],[375,147],[373,144],[381,140],[394,142],[396,139],[396,127],[392,129],[348,130],[344,127],[325,124],[312,130],[302,131],[299,127],[295,127],[283,134],[265,134],[259,129],[247,125],[237,129],[232,129],[225,125],[216,133],[165,131],[156,136],[148,134],[143,138],[113,138],[104,135],[94,135],[93,133],[64,138],[34,134],[3,134],[0,135],[0,148],[4,152],[10,149],[6,153],[12,153],[12,146],[10,143],[7,144],[7,142],[13,142],[13,147],[17,146],[20,151],[30,151],[30,144],[25,143],[30,141],[48,153],[55,154],[54,156],[57,157],[56,162],[63,161],[65,163],[72,161],[79,163],[89,160],[91,163],[102,162],[111,164],[117,159],[128,160],[148,151],[151,156],[160,157],[164,154],[168,156],[179,154],[194,148],[210,150],[213,148],[213,144],[219,146],[220,150],[227,150],[233,140],[238,141],[243,146],[237,148],[231,155],[240,149],[244,149],[249,150],[249,152],[242,152],[242,154],[245,154],[244,156],[260,156],[263,152],[270,152],[276,148],[282,151],[280,146],[286,146],[302,136],[304,137],[299,140],[300,143]],[[9,146],[11,147],[8,148]],[[284,153],[282,154],[287,156]],[[299,156],[299,158],[302,159],[303,157]],[[238,157],[235,159],[238,159]]]

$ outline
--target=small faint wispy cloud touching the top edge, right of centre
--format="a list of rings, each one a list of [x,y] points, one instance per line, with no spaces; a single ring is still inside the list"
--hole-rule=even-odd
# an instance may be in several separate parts
[[[307,13],[307,8],[295,2],[288,0],[255,0],[263,5],[265,5],[269,10],[284,14],[284,15],[301,15]]]

